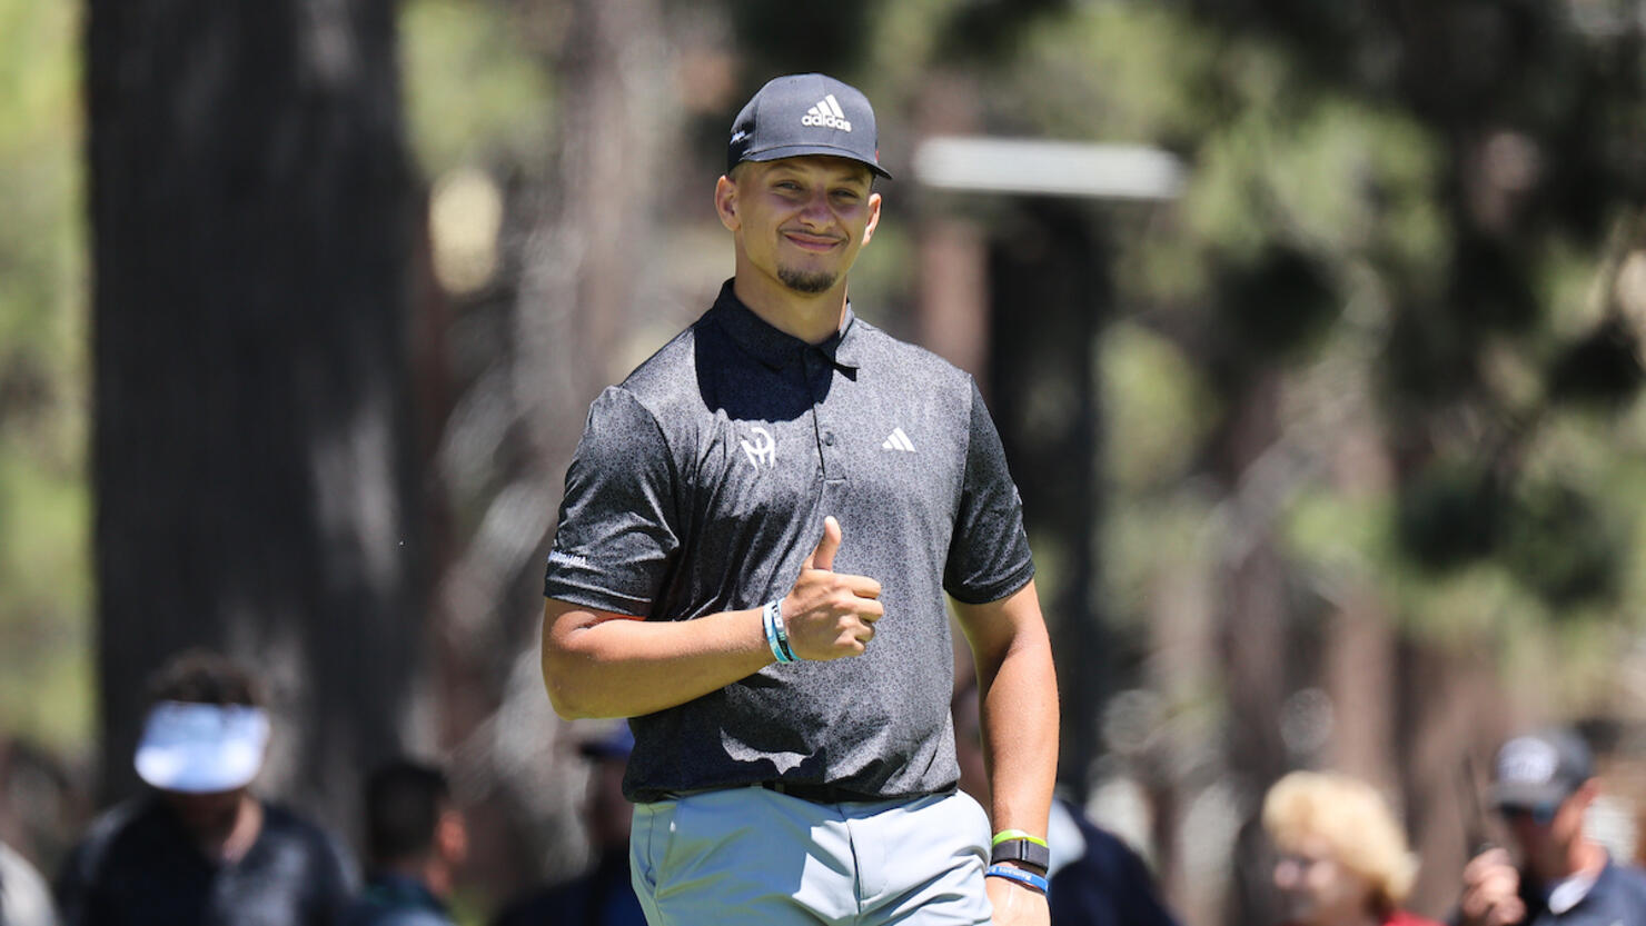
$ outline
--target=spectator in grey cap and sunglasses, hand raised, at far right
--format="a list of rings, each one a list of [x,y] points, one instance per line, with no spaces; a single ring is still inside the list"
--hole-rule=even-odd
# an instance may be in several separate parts
[[[1616,865],[1583,832],[1598,786],[1572,730],[1518,737],[1498,752],[1493,803],[1521,865],[1488,849],[1463,868],[1465,926],[1646,923],[1646,873]]]

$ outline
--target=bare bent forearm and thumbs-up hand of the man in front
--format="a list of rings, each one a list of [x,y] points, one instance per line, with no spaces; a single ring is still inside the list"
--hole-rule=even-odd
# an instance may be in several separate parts
[[[780,605],[790,648],[802,660],[861,655],[882,613],[879,582],[833,571],[839,543],[839,523],[826,518]],[[556,599],[543,607],[543,683],[566,719],[652,714],[772,661],[760,609],[652,622]]]

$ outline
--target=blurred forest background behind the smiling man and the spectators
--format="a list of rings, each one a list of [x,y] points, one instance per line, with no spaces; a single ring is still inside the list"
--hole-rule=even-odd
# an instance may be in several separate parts
[[[596,391],[731,275],[737,107],[874,100],[874,324],[1022,490],[1060,781],[1190,926],[1272,921],[1292,768],[1455,901],[1491,750],[1646,808],[1639,0],[0,0],[0,839],[137,789],[142,684],[268,679],[351,836],[441,758],[471,910],[586,862],[542,561]]]

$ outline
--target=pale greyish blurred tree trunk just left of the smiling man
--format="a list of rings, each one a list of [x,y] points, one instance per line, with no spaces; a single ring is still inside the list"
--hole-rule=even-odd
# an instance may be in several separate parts
[[[474,821],[471,870],[492,896],[563,880],[588,857],[571,742],[584,730],[550,712],[538,668],[543,563],[589,403],[627,373],[637,304],[657,313],[645,299],[662,288],[660,215],[686,112],[672,54],[681,23],[658,0],[532,0],[522,15],[565,18],[537,49],[555,72],[560,143],[514,197],[505,334],[463,400],[504,410],[495,442],[463,451],[499,461],[495,492],[441,587],[441,674],[456,696],[443,740]],[[713,176],[685,183],[706,199]]]

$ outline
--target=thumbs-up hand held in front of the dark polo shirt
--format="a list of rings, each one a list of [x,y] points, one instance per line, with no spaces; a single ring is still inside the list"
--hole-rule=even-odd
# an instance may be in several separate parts
[[[861,656],[869,640],[874,640],[874,622],[886,613],[879,602],[879,582],[867,576],[835,572],[839,541],[839,521],[823,518],[823,538],[780,605],[788,648],[802,660]]]

